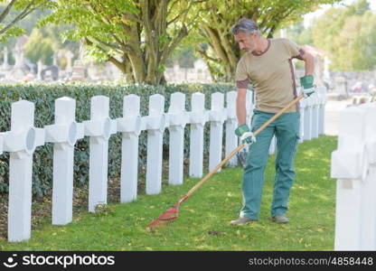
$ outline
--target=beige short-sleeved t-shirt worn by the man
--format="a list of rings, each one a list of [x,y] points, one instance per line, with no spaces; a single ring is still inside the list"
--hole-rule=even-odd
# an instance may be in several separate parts
[[[296,82],[292,59],[302,60],[304,51],[287,39],[270,39],[261,54],[245,53],[238,62],[236,83],[238,89],[247,89],[249,80],[256,93],[255,108],[277,113],[296,98]],[[287,112],[296,112],[299,106]]]

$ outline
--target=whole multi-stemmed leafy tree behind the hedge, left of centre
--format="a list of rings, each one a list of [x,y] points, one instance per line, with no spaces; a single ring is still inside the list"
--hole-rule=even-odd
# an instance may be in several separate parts
[[[43,23],[67,23],[66,39],[84,40],[91,56],[111,61],[137,83],[164,83],[164,65],[193,28],[202,1],[58,0]]]

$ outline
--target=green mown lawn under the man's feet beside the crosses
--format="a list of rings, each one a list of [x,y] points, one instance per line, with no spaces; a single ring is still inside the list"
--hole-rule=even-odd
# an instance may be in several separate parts
[[[270,220],[275,159],[271,155],[257,223],[229,225],[241,207],[242,169],[224,168],[183,202],[174,223],[155,232],[148,232],[146,225],[199,179],[164,185],[161,194],[140,195],[131,203],[109,204],[98,214],[75,213],[66,226],[46,223],[33,229],[28,241],[1,240],[0,250],[333,250],[335,182],[330,178],[330,155],[336,140],[321,135],[299,145],[287,225]]]

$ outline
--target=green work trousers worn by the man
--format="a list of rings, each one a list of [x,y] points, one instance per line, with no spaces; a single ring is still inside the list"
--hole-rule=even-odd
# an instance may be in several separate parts
[[[254,110],[252,131],[256,131],[275,114]],[[286,214],[290,188],[295,179],[294,158],[299,138],[299,112],[284,113],[256,136],[249,146],[247,164],[243,173],[243,207],[240,217],[258,220],[264,171],[268,163],[268,150],[273,135],[277,138],[276,177],[274,181],[271,216]]]

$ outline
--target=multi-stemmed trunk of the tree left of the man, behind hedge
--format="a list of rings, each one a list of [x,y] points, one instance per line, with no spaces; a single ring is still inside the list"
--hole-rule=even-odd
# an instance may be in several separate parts
[[[174,29],[169,27],[169,23],[173,23],[167,23],[170,2],[171,0],[140,0],[138,14],[123,14],[122,26],[127,39],[114,36],[118,43],[116,49],[124,53],[123,61],[114,57],[109,57],[109,61],[126,75],[127,81],[150,85],[166,83],[164,65],[176,46],[188,35],[187,23],[184,21]],[[183,10],[175,19],[188,10],[189,8]],[[171,12],[171,8],[169,11]],[[136,23],[127,23],[127,19]],[[108,42],[102,43],[109,47],[112,45]]]

